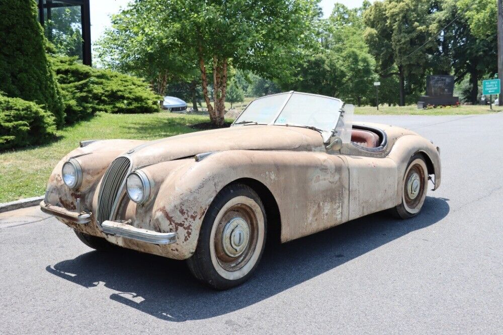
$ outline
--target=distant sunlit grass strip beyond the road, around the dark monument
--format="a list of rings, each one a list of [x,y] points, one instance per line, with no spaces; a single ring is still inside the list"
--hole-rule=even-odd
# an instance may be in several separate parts
[[[503,111],[503,108],[492,106],[492,111],[489,106],[464,106],[454,108],[433,108],[433,109],[417,109],[412,106],[379,106],[379,111],[375,107],[363,106],[355,107],[355,114],[361,115],[469,115],[469,114],[489,114]]]

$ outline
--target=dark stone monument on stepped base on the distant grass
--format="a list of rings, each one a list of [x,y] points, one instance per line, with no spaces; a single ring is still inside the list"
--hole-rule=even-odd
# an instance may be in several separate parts
[[[454,94],[454,76],[446,74],[429,75],[426,77],[426,96],[422,96],[417,102],[417,108],[425,108],[428,105],[447,106],[459,103]]]

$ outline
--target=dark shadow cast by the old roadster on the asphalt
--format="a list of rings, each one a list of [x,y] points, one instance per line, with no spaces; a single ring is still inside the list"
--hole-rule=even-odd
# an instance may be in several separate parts
[[[427,197],[421,214],[405,221],[380,212],[269,246],[254,276],[243,285],[223,292],[197,282],[183,261],[126,249],[89,252],[46,270],[87,288],[103,283],[119,292],[110,299],[160,319],[204,319],[253,305],[396,238],[435,224],[449,213],[446,200]]]

